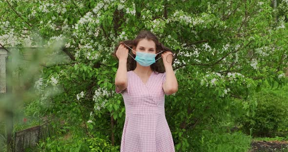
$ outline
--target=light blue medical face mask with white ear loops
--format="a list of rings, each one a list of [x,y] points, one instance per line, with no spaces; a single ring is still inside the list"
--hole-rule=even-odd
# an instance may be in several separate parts
[[[126,44],[124,44],[126,45]],[[126,45],[127,46],[127,45]],[[129,46],[127,46],[128,48],[130,48]],[[131,49],[131,48],[130,48]],[[133,49],[131,49],[132,51],[134,51]],[[134,51],[136,52],[136,51]],[[163,52],[163,51],[161,51]],[[159,52],[159,53],[161,53]],[[134,58],[140,65],[142,66],[149,66],[153,63],[155,63],[158,59],[160,59],[161,57],[159,57],[158,59],[155,60],[155,57],[159,54],[151,54],[151,53],[144,53],[144,52],[136,52],[136,57]],[[128,53],[129,54],[129,53]],[[130,55],[130,54],[129,54]],[[130,55],[131,56],[131,55]],[[131,56],[132,57],[132,56]]]

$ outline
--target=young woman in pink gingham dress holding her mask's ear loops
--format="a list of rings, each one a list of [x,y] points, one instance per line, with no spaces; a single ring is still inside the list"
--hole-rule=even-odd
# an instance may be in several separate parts
[[[172,51],[142,31],[120,42],[114,55],[119,59],[116,93],[122,94],[126,113],[121,152],[175,152],[164,108],[165,95],[178,90]]]

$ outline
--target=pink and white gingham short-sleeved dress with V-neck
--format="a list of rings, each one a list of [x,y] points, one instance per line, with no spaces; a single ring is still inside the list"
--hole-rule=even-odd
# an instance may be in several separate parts
[[[165,73],[152,72],[146,84],[133,71],[127,77],[126,89],[116,87],[126,113],[120,152],[175,152],[165,117]]]

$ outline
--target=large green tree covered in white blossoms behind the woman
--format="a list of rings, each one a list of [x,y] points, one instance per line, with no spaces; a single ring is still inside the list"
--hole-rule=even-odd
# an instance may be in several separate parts
[[[51,105],[45,111],[62,117],[70,132],[108,136],[113,146],[120,144],[125,109],[114,91],[118,63],[111,53],[141,30],[175,52],[179,90],[166,96],[165,109],[176,151],[208,143],[204,131],[227,114],[253,114],[253,93],[264,80],[285,83],[287,0],[275,10],[267,0],[5,0],[0,7],[0,45],[7,50],[63,41],[57,54],[69,62],[42,65],[35,85],[40,103]],[[41,92],[47,86],[62,94],[48,98]]]

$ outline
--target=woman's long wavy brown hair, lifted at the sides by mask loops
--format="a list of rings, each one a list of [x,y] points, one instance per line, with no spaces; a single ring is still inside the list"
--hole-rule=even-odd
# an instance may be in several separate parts
[[[130,48],[136,48],[138,45],[138,42],[142,39],[148,39],[148,40],[153,40],[154,43],[156,44],[156,54],[161,52],[161,51],[169,51],[171,53],[173,53],[169,48],[165,47],[162,43],[159,42],[158,38],[151,33],[150,31],[141,31],[137,37],[133,40],[124,40],[124,41],[120,41],[119,44],[115,47],[114,53],[112,54],[114,57],[117,58],[116,56],[116,51],[118,50],[118,47],[120,44],[126,44],[127,46],[129,46]],[[136,57],[133,53],[130,53],[132,50],[128,47],[126,47],[129,50],[129,54],[132,57]],[[159,58],[161,57],[161,54],[158,54],[155,58]],[[127,58],[127,71],[131,71],[131,70],[135,70],[136,68],[136,61],[130,56],[128,55]],[[118,58],[117,58],[118,59]],[[155,63],[151,64],[151,69],[152,71],[158,72],[158,73],[164,73],[165,72],[165,67],[163,64],[163,59],[159,59],[157,60]]]

